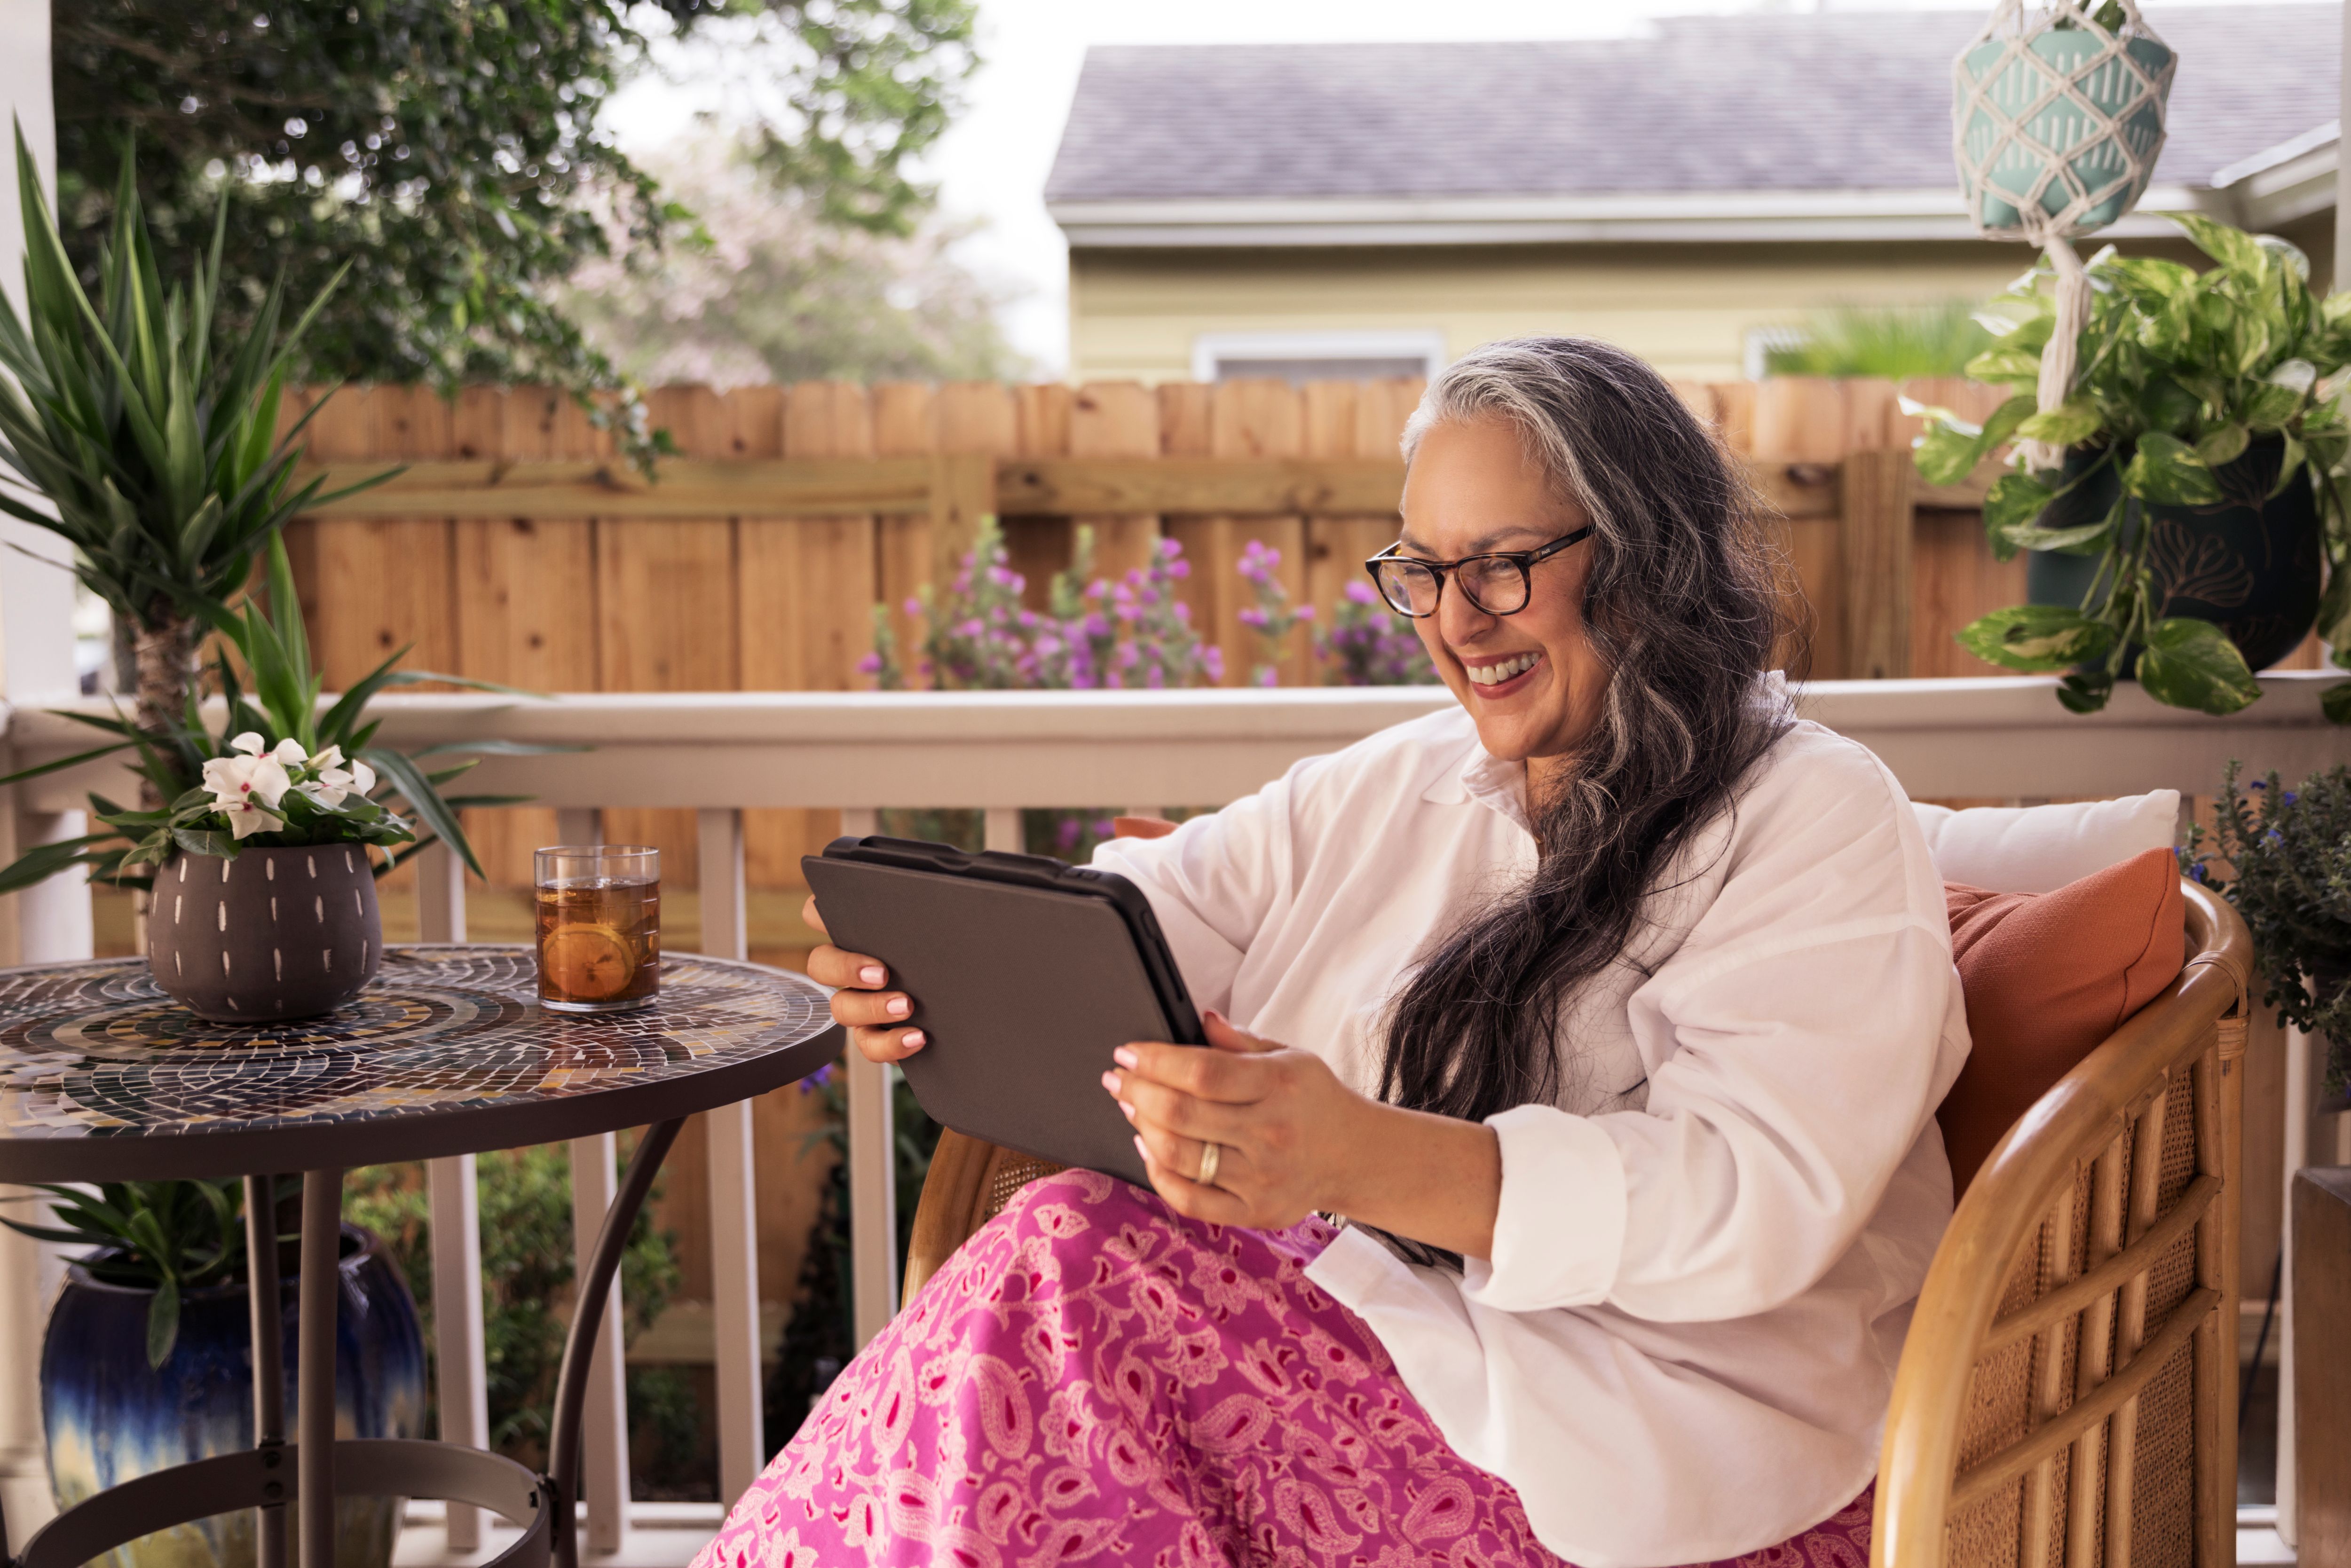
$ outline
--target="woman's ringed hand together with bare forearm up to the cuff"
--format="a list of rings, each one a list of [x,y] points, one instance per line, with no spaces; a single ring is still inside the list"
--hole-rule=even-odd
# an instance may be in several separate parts
[[[1312,1051],[1258,1039],[1220,1013],[1206,1025],[1208,1051],[1136,1041],[1103,1074],[1168,1208],[1251,1229],[1342,1213],[1465,1258],[1493,1255],[1502,1143],[1491,1126],[1382,1105]],[[1199,1180],[1211,1143],[1213,1185]]]

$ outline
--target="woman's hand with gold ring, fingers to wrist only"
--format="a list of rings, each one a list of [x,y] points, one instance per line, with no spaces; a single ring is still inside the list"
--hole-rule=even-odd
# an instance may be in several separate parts
[[[1347,1171],[1368,1138],[1371,1100],[1310,1051],[1258,1039],[1220,1013],[1208,1048],[1136,1041],[1103,1088],[1136,1124],[1152,1187],[1208,1225],[1286,1229],[1317,1208],[1347,1208]],[[1215,1185],[1201,1185],[1206,1145]]]

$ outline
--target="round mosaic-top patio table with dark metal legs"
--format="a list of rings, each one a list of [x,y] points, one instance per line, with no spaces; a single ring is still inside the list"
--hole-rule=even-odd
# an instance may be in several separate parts
[[[484,1568],[576,1568],[581,1413],[595,1326],[630,1222],[694,1112],[809,1077],[839,1056],[813,980],[663,954],[637,1013],[538,1009],[529,947],[386,947],[327,1018],[205,1023],[143,959],[0,969],[0,1182],[245,1178],[254,1302],[254,1448],[113,1486],[49,1521],[14,1568],[80,1568],[148,1530],[259,1509],[259,1568],[334,1563],[336,1490],[470,1502],[522,1526]],[[334,1441],[334,1312],[343,1171],[649,1126],[578,1269],[548,1472],[458,1443]],[[296,1441],[284,1371],[273,1192],[303,1173]],[[5,1542],[0,1528],[0,1542]]]

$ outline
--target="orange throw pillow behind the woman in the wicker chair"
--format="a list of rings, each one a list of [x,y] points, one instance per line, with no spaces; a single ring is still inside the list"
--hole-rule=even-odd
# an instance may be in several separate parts
[[[1994,1145],[2186,961],[2179,860],[2149,849],[2050,893],[1942,889],[1975,1048],[1935,1119],[1965,1192]]]

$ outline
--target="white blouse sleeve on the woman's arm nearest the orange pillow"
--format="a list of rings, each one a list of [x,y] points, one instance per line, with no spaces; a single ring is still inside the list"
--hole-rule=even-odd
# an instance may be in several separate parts
[[[1742,802],[1721,891],[1632,997],[1643,1110],[1488,1119],[1502,1201],[1472,1300],[1747,1316],[1862,1234],[1965,1056],[1942,886],[1862,762]]]

